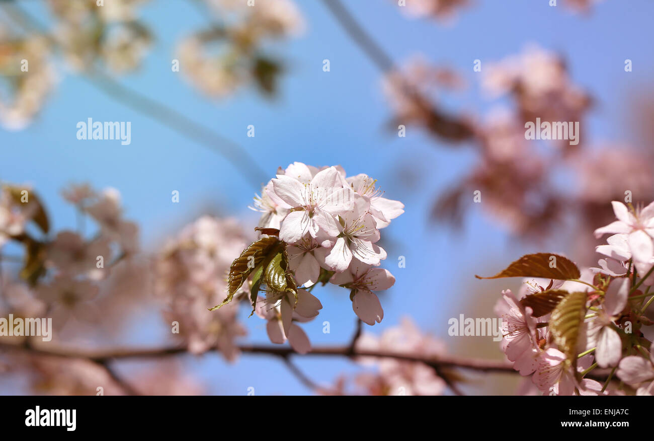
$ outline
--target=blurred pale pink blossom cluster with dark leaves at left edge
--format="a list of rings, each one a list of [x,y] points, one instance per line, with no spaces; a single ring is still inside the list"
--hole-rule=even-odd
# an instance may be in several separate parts
[[[11,241],[25,249],[20,275],[26,283],[3,281],[7,312],[29,312],[29,317],[48,311],[56,328],[63,327],[71,317],[97,322],[101,303],[96,298],[97,282],[137,251],[137,226],[122,219],[116,190],[97,193],[88,186],[75,186],[63,196],[77,207],[80,217],[88,216],[96,222],[92,238],[72,230],[61,230],[52,240],[35,237],[31,223],[42,233],[49,231],[37,196],[25,187],[5,186],[0,190],[0,247]]]

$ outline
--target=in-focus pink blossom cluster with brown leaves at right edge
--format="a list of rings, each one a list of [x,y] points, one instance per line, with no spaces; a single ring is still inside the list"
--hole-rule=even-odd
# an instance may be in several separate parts
[[[647,328],[654,322],[646,316],[654,300],[649,292],[654,285],[654,203],[634,208],[613,202],[613,211],[617,221],[595,230],[597,237],[613,234],[606,245],[596,247],[604,255],[599,268],[585,270],[581,277],[560,273],[527,280],[517,296],[502,292],[496,308],[503,317],[502,349],[515,370],[532,376],[543,393],[654,391],[653,334]],[[534,256],[524,256],[521,263],[529,267]],[[570,264],[566,260],[564,266]],[[591,371],[604,378],[604,385],[587,377]],[[620,385],[610,382],[614,373]]]

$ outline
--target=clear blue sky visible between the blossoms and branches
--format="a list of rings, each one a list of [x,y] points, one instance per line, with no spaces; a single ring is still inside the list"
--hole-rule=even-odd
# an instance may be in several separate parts
[[[21,3],[47,22],[44,1]],[[404,215],[383,231],[390,245],[384,266],[397,282],[383,296],[381,325],[366,328],[380,332],[410,315],[421,328],[445,338],[456,350],[460,341],[447,337],[447,319],[466,310],[466,300],[473,296],[470,290],[487,289],[485,282],[473,281],[473,274],[498,269],[498,262],[510,262],[526,249],[479,210],[468,214],[460,233],[428,221],[437,192],[456,183],[474,164],[472,150],[441,145],[417,128],[409,128],[405,138],[388,132],[385,124],[392,114],[381,92],[380,72],[322,2],[296,3],[307,30],[300,38],[273,48],[288,68],[273,99],[262,98],[252,88],[220,101],[207,99],[181,73],[171,71],[177,41],[207,25],[198,9],[180,0],[154,0],[141,9],[156,40],[141,69],[120,81],[243,145],[269,177],[278,166],[301,161],[315,166],[341,164],[348,175],[367,173],[379,179],[386,196],[402,200],[406,207]],[[625,7],[624,2],[607,0],[588,16],[570,14],[562,5],[549,7],[547,0],[473,3],[448,25],[409,20],[390,0],[347,2],[347,8],[396,62],[420,53],[432,63],[462,73],[470,88],[445,97],[453,111],[481,115],[492,105],[479,94],[473,60],[496,61],[521,52],[526,43],[560,52],[568,60],[574,82],[597,98],[588,122],[593,139],[630,139],[622,117],[629,107],[628,92],[645,84],[654,71],[651,1],[632,0]],[[633,61],[631,73],[623,69],[626,58]],[[330,60],[328,73],[322,71],[324,59]],[[76,124],[89,117],[131,121],[131,145],[78,141]],[[254,138],[247,137],[249,124],[256,128]],[[401,181],[405,169],[417,177],[415,185]],[[72,209],[59,196],[63,186],[88,181],[97,188],[118,188],[126,216],[139,222],[143,243],[150,248],[207,207],[243,216],[254,226],[256,215],[247,206],[262,183],[242,177],[215,152],[63,70],[56,91],[34,124],[22,132],[0,131],[0,178],[31,183],[47,201],[55,230],[75,222]],[[179,204],[171,203],[172,190],[179,190]],[[400,255],[406,257],[406,268],[397,268]],[[304,326],[313,344],[346,342],[354,324],[347,292],[317,289],[315,294],[324,309],[317,320]],[[491,310],[487,316],[492,317]],[[331,323],[330,334],[321,332],[324,320]],[[266,342],[263,322],[253,317],[247,323],[250,341]],[[137,332],[154,334],[152,329]],[[494,345],[491,340],[483,344]],[[189,363],[207,379],[211,393],[243,394],[250,385],[257,395],[307,393],[275,359],[248,356],[230,366],[209,356]],[[352,366],[318,358],[298,360],[298,364],[320,382]]]

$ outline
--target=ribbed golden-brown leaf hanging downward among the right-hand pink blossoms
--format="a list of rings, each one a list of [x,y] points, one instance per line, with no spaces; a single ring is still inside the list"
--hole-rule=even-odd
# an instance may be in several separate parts
[[[549,319],[549,329],[554,336],[554,342],[573,366],[577,361],[579,328],[585,313],[586,293],[572,292],[559,302]]]

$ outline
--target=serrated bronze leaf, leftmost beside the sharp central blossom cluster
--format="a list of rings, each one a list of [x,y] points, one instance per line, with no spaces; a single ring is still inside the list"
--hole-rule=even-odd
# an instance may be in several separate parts
[[[277,252],[282,244],[283,242],[279,239],[269,236],[252,242],[249,247],[244,249],[243,253],[235,258],[232,266],[230,266],[230,275],[227,279],[227,297],[222,303],[209,308],[209,311],[214,311],[231,302],[234,294],[243,285],[250,273],[263,262],[266,256]]]

